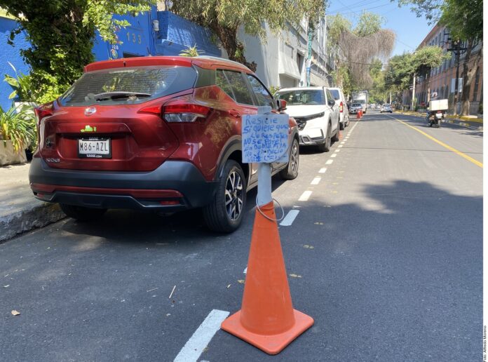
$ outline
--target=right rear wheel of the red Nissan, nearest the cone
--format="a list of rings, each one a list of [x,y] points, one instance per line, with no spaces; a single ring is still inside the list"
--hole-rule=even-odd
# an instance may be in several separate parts
[[[238,229],[245,212],[246,188],[243,168],[236,161],[227,160],[214,199],[203,208],[208,229],[222,233]]]

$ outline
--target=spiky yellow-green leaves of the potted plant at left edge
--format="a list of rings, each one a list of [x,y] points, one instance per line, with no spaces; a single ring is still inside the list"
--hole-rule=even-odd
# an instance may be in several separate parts
[[[12,141],[13,149],[19,152],[36,140],[36,121],[32,110],[25,107],[0,107],[0,138]]]

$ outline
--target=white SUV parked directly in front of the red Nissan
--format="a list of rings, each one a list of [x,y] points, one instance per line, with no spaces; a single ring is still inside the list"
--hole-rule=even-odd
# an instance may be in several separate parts
[[[287,109],[297,121],[300,145],[318,146],[329,152],[330,145],[339,140],[339,107],[325,87],[283,88],[275,98],[285,100]]]

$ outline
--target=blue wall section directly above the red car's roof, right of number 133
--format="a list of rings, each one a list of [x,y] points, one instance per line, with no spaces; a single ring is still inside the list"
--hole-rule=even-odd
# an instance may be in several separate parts
[[[203,55],[222,56],[222,51],[210,40],[211,33],[169,11],[158,11],[159,34],[156,39],[157,55],[179,55],[189,46],[195,46]]]

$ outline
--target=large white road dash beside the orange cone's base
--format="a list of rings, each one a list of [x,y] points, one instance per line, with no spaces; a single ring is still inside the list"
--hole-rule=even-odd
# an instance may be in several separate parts
[[[228,311],[219,311],[218,309],[210,311],[205,321],[201,323],[181,351],[179,351],[174,362],[197,361],[203,349],[208,346],[212,337],[220,329],[220,324],[227,316],[229,316]]]

